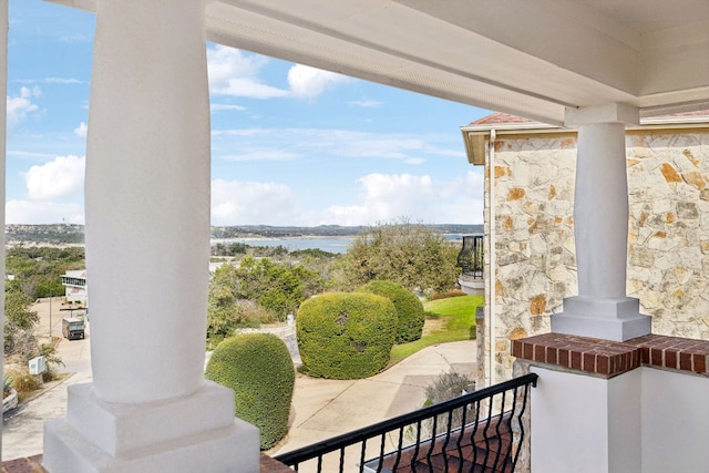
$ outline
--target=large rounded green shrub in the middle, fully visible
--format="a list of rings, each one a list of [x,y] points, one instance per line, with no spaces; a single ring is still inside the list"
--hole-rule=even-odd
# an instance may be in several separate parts
[[[306,372],[328,379],[360,379],[379,372],[394,342],[397,309],[386,297],[328,292],[306,300],[296,335]]]

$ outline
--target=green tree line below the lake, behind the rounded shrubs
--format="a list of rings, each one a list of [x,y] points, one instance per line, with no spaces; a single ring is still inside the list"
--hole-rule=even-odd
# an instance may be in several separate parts
[[[215,345],[239,327],[282,321],[300,304],[321,292],[354,290],[371,280],[389,280],[420,295],[455,287],[458,245],[422,224],[405,219],[361,230],[347,253],[320,249],[217,244],[223,260],[210,278],[207,337]],[[19,330],[33,326],[30,304],[64,294],[61,275],[85,268],[82,247],[14,247],[7,251],[6,351]]]

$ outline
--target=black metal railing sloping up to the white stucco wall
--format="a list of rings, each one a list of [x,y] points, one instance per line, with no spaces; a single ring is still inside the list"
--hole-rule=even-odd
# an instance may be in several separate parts
[[[514,472],[536,380],[525,374],[275,460],[298,472]]]

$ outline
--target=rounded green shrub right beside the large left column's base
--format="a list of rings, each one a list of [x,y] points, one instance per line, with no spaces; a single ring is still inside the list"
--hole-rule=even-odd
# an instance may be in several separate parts
[[[212,353],[205,378],[234,390],[234,413],[258,428],[261,450],[288,433],[296,372],[278,337],[245,333],[225,339]]]

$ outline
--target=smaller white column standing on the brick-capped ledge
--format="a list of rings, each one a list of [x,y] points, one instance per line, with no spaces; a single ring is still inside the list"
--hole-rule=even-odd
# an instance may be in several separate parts
[[[628,184],[625,123],[638,123],[638,110],[624,104],[567,110],[566,124],[578,126],[574,237],[578,296],[564,299],[552,316],[552,331],[609,340],[650,332],[639,301],[626,297]]]

